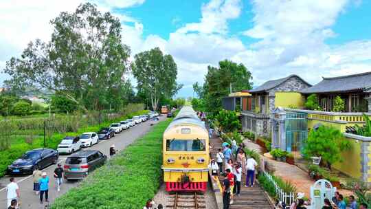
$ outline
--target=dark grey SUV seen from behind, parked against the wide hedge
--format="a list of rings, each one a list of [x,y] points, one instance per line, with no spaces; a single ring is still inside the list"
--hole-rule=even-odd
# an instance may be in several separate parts
[[[95,168],[106,162],[107,156],[100,151],[85,150],[67,157],[65,166],[65,179],[83,179]]]

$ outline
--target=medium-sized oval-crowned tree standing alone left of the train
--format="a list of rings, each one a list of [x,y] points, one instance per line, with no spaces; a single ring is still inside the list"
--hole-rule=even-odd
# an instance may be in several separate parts
[[[182,87],[177,84],[177,64],[171,55],[162,54],[158,47],[136,54],[131,69],[138,91],[148,98],[154,110],[161,97],[170,99]]]

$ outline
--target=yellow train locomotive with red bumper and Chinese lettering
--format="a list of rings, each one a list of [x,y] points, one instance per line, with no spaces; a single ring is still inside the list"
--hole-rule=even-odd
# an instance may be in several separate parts
[[[192,107],[183,107],[164,132],[163,164],[167,191],[207,189],[209,134]]]

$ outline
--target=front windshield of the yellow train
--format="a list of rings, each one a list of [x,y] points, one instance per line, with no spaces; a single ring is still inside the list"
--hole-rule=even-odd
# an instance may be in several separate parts
[[[166,140],[166,151],[206,151],[205,140]]]

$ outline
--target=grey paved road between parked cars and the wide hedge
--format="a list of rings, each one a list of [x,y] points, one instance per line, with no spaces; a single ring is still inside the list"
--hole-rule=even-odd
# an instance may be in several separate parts
[[[161,116],[160,120],[165,120],[165,116]],[[137,140],[137,138],[141,137],[148,131],[150,131],[152,126],[150,126],[149,122],[143,122],[141,124],[137,124],[136,126],[131,127],[131,129],[128,129],[126,131],[122,131],[122,133],[115,135],[115,137],[111,138],[111,140],[100,140],[99,144],[95,144],[91,148],[83,148],[83,149],[93,149],[93,150],[99,150],[105,155],[109,156],[109,147],[112,144],[115,144],[115,148],[118,150],[122,150],[126,148],[129,144]],[[61,164],[64,164],[65,159],[68,157],[68,155],[60,155],[58,162]],[[47,172],[47,175],[49,176],[49,201],[52,203],[56,197],[59,197],[60,195],[63,195],[65,192],[67,192],[69,189],[74,188],[78,186],[80,181],[65,181],[63,185],[60,188],[60,192],[56,190],[55,187],[55,179],[53,177],[54,169],[56,168],[56,165],[49,166],[47,168],[44,168],[43,171]],[[8,176],[5,176],[0,179],[0,208],[6,208],[6,188],[3,188],[3,186],[6,186],[9,183]],[[15,177],[16,182],[19,185],[19,188],[21,189],[21,208],[45,208],[45,203],[41,204],[38,195],[35,195],[33,188],[33,181],[32,181],[32,175],[25,175],[22,177]]]

